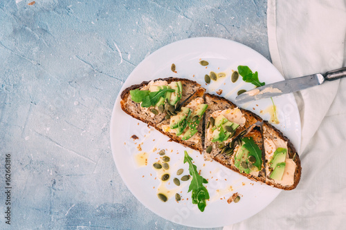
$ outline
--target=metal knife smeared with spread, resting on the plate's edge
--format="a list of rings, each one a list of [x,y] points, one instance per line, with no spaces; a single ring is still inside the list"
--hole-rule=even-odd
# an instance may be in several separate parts
[[[286,93],[293,93],[295,91],[310,88],[312,86],[318,86],[323,84],[325,81],[334,81],[343,77],[346,77],[346,67],[328,71],[324,75],[321,73],[316,73],[314,75],[307,75],[282,82],[275,82],[273,84],[267,84],[265,86],[254,88],[253,90],[248,90],[245,93],[235,97],[235,102],[243,104],[266,97],[275,97]]]

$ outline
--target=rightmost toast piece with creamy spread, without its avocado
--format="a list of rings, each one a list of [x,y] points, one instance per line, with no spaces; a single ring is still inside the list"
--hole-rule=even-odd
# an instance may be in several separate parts
[[[300,165],[300,158],[295,151],[293,144],[287,137],[285,137],[279,130],[277,130],[277,128],[275,128],[271,124],[268,124],[268,122],[264,122],[263,124],[263,137],[265,151],[264,164],[266,165],[266,184],[284,190],[295,189],[300,181],[302,166]],[[273,158],[273,151],[275,151],[277,147],[287,148],[286,166],[284,171],[284,174],[286,175],[283,176],[282,181],[275,181],[270,178],[271,171],[269,170],[269,162]],[[295,164],[295,169],[293,168],[294,164],[292,162],[294,162]],[[290,168],[291,170],[288,170]],[[289,174],[291,174],[291,178],[288,176]],[[287,183],[284,183],[285,176],[290,180]]]

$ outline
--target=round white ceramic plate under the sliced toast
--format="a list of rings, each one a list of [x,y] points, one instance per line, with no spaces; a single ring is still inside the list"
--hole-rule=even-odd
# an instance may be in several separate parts
[[[208,68],[199,64],[200,59],[209,62]],[[173,63],[176,65],[176,73],[171,71]],[[237,70],[239,65],[249,66],[253,72],[257,71],[260,81],[266,84],[284,79],[266,58],[247,46],[227,39],[200,37],[176,41],[149,55],[129,75],[120,93],[133,84],[172,76],[195,80],[205,87],[208,93],[215,93],[216,90],[222,89],[221,96],[234,102],[238,90],[249,90],[254,87],[250,83],[243,82],[241,77],[237,82],[231,82],[231,70]],[[210,71],[217,73],[226,71],[228,75],[206,86],[204,75]],[[167,142],[168,138],[154,128],[148,128],[143,122],[122,111],[120,93],[111,117],[113,158],[122,180],[131,193],[157,215],[190,227],[222,227],[255,215],[280,193],[279,189],[252,182],[217,162],[205,162],[203,156],[197,151],[192,151],[175,142]],[[293,95],[275,97],[274,102],[280,121],[280,124],[275,126],[299,149],[300,117]],[[242,105],[243,108],[267,120],[270,116],[261,115],[260,111],[265,111],[268,106],[271,106],[271,99]],[[136,135],[138,140],[133,140],[132,135]],[[168,170],[170,180],[160,186],[158,178],[161,178],[163,170],[157,171],[152,164],[160,159],[158,151],[162,148],[171,159]],[[188,174],[188,165],[183,164],[184,150],[188,151],[197,169],[201,170],[201,175],[209,182],[206,186],[210,193],[210,200],[203,213],[191,202],[191,192],[188,193],[190,181],[182,182],[179,187],[172,182],[173,178],[180,179],[182,175]],[[147,157],[147,166],[139,166],[137,160],[140,156]],[[184,169],[184,173],[177,176],[176,171],[181,168]],[[167,202],[161,202],[158,199],[159,187],[161,192],[169,195]],[[228,204],[226,200],[235,192],[241,195],[241,200],[236,204],[234,202]],[[175,193],[181,195],[182,200],[179,203],[174,199]]]

